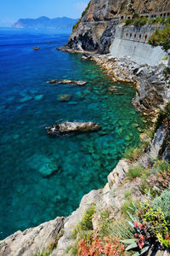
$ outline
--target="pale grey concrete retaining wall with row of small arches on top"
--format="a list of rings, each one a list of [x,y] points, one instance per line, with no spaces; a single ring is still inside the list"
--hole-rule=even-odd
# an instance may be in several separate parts
[[[115,57],[126,55],[139,64],[155,66],[158,61],[167,56],[161,47],[153,48],[147,43],[155,30],[156,26],[142,26],[141,28],[117,26],[116,37],[110,48],[111,55]]]

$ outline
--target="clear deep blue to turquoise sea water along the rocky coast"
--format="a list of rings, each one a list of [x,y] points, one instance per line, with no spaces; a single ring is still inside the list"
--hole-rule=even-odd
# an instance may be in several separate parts
[[[75,210],[101,188],[127,147],[139,143],[142,119],[132,84],[113,84],[93,61],[57,51],[68,34],[0,29],[0,238]],[[34,51],[34,46],[40,49]],[[46,84],[81,79],[84,87]],[[118,92],[108,88],[118,86]],[[70,102],[59,102],[70,94]],[[51,138],[45,127],[95,121],[101,131]],[[51,177],[42,172],[55,169]]]

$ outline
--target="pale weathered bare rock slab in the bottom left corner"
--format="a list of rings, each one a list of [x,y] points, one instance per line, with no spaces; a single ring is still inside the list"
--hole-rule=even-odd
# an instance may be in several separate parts
[[[36,228],[17,231],[0,241],[0,256],[34,256],[62,236],[65,218],[58,217]]]

